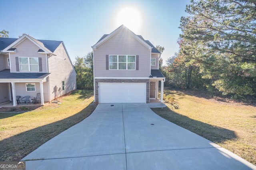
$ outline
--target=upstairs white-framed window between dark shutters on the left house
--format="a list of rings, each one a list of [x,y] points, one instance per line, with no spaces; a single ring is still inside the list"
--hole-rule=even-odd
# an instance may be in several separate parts
[[[19,57],[20,71],[39,71],[38,58]]]

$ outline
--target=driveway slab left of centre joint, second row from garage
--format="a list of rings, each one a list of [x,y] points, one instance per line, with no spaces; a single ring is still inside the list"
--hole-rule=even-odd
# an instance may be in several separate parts
[[[123,123],[122,112],[93,113],[80,123]]]

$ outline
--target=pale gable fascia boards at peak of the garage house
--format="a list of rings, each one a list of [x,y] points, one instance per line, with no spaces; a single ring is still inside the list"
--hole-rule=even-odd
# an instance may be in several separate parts
[[[140,41],[140,43],[142,43],[143,45],[145,45],[149,50],[152,49],[152,47],[150,45],[148,45],[145,41],[143,41],[140,37],[138,37],[138,35],[136,35],[135,33],[133,33],[130,29],[128,29],[126,26],[121,25],[120,27],[118,27],[117,29],[115,29],[112,33],[110,33],[108,36],[106,36],[104,39],[100,40],[98,43],[96,43],[95,45],[92,46],[92,49],[96,49],[99,45],[101,45],[102,43],[104,43],[105,41],[107,41],[109,38],[111,38],[113,35],[115,35],[116,33],[118,33],[118,31],[120,31],[121,29],[125,29],[126,31],[128,31],[128,33],[130,33],[135,39],[137,39],[138,41]]]

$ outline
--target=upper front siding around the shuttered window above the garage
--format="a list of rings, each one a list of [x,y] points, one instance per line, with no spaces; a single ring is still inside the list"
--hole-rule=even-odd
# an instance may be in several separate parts
[[[150,74],[148,48],[130,33],[121,29],[94,51],[95,77],[148,77]],[[106,55],[139,55],[139,70],[106,70]]]

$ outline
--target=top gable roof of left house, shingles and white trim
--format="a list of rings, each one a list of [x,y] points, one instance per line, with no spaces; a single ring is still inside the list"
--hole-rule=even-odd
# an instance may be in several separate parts
[[[24,34],[24,35],[26,35],[26,34]],[[32,39],[35,43],[37,43],[39,45],[39,47],[43,48],[43,49],[41,49],[42,51],[44,51],[44,49],[46,49],[46,51],[48,51],[50,53],[53,53],[57,49],[57,47],[63,42],[63,41],[52,41],[52,40],[37,40],[29,35],[26,35],[26,36],[24,36],[24,35],[22,35],[20,38],[0,37],[0,51],[3,51],[10,45],[14,46],[16,43],[19,42],[19,41],[17,41],[18,39],[21,40],[24,37]],[[16,43],[15,43],[15,41],[16,41]],[[9,50],[9,49],[6,49],[6,50]],[[44,51],[44,52],[46,52],[46,51]]]

